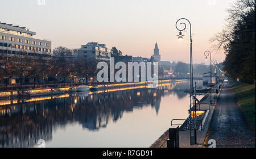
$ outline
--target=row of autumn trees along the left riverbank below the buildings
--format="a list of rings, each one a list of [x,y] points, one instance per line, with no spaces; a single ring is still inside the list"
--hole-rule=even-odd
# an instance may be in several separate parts
[[[70,58],[67,53],[72,54],[70,49],[58,47],[53,53],[55,56],[48,57],[33,57],[26,53],[23,55],[14,55],[3,57],[0,63],[0,78],[4,79],[7,89],[9,79],[18,78],[19,86],[22,88],[24,80],[31,78],[33,85],[37,79],[42,79],[46,84],[47,79],[54,80],[63,78],[63,83],[69,78],[69,81],[74,81],[76,77],[79,82],[88,82],[88,78],[94,77],[97,74],[96,61],[86,60],[84,57]]]

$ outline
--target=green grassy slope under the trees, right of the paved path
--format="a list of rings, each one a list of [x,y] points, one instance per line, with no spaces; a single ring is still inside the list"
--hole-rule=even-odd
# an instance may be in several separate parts
[[[255,83],[253,85],[243,82],[231,81],[238,105],[241,107],[247,124],[255,131]]]

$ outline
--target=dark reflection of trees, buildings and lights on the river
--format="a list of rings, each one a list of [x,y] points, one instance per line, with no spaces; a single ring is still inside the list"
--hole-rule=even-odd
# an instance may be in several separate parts
[[[133,114],[135,109],[151,107],[157,116],[163,97],[184,99],[188,95],[184,90],[188,87],[187,81],[171,81],[159,84],[156,89],[147,89],[146,86],[114,88],[93,94],[81,92],[34,98],[2,106],[0,147],[34,147],[39,139],[50,142],[59,128],[76,123],[85,131],[99,132],[100,129],[108,129],[110,122],[118,123],[123,114]]]

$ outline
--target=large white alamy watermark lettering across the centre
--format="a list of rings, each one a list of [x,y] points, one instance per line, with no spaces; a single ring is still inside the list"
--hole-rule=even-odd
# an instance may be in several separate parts
[[[117,62],[115,64],[114,58],[111,57],[109,65],[107,62],[98,62],[97,69],[101,69],[97,74],[98,82],[158,81],[158,62],[128,62],[128,65],[125,62]],[[115,72],[115,69],[119,70]]]

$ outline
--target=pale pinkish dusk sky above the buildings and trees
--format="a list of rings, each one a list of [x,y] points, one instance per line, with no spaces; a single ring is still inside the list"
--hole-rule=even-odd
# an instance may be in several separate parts
[[[52,49],[81,48],[97,41],[117,47],[123,55],[150,58],[157,41],[161,60],[189,62],[189,25],[178,41],[175,23],[187,18],[192,25],[193,62],[225,60],[210,37],[222,31],[226,9],[235,0],[1,0],[0,22],[28,27],[36,37],[50,39]]]

